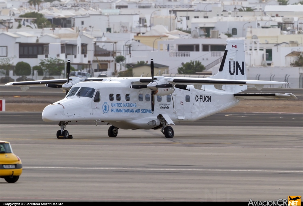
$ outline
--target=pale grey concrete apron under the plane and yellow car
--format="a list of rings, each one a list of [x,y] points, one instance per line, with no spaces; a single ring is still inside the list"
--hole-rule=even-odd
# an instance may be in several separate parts
[[[303,194],[302,127],[173,126],[119,130],[1,124],[23,164],[1,201],[253,201]]]

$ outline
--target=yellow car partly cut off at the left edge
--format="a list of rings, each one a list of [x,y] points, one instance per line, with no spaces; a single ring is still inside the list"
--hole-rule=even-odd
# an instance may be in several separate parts
[[[12,151],[9,142],[0,141],[0,178],[8,183],[14,183],[22,173],[20,158]]]

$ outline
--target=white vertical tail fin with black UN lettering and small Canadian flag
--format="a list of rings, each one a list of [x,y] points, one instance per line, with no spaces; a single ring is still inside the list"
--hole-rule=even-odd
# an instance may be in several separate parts
[[[244,40],[234,39],[227,41],[218,73],[208,78],[246,80]],[[247,90],[246,85],[218,85],[217,87],[226,92],[234,93]]]

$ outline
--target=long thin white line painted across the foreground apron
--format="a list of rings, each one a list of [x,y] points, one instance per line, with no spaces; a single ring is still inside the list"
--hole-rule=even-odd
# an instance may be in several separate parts
[[[173,168],[106,168],[106,167],[23,167],[36,169],[99,169],[99,170],[149,170],[149,171],[213,171],[213,172],[300,172],[295,170],[252,170],[252,169],[173,169]]]

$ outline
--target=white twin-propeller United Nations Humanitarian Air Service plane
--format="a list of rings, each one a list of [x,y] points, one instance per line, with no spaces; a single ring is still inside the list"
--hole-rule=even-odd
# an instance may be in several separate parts
[[[57,138],[72,138],[65,129],[72,121],[105,122],[112,126],[109,137],[116,137],[118,129],[161,129],[166,138],[174,137],[170,126],[174,122],[193,122],[218,113],[244,99],[297,99],[291,93],[240,93],[253,85],[261,90],[268,84],[288,84],[276,81],[246,80],[243,40],[229,40],[218,74],[207,78],[154,77],[151,60],[151,78],[69,77],[67,79],[11,82],[6,86],[45,84],[60,87],[64,99],[45,107],[42,119],[59,122]]]

